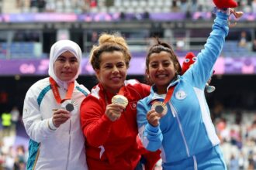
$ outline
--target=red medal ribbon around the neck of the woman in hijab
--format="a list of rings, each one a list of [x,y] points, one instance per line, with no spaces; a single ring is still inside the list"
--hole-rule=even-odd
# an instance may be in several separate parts
[[[64,102],[64,100],[69,100],[71,99],[71,96],[72,96],[72,93],[73,93],[73,90],[74,90],[74,81],[71,82],[68,87],[67,87],[67,93],[66,93],[66,96],[64,99],[61,100],[61,96],[60,96],[60,93],[59,93],[59,90],[57,90],[57,83],[56,81],[50,77],[50,87],[51,89],[53,90],[53,93],[54,93],[54,98],[55,100],[57,101],[57,104],[61,104]]]

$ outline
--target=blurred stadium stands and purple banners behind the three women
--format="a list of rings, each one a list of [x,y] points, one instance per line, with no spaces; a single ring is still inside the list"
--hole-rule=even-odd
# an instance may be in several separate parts
[[[216,90],[206,97],[229,169],[256,169],[256,1],[237,2],[244,16],[230,16],[230,34],[211,83]],[[50,46],[58,39],[81,46],[78,82],[91,89],[96,79],[88,52],[100,33],[117,32],[126,37],[133,56],[128,79],[144,82],[144,56],[152,37],[170,43],[182,62],[185,53],[203,48],[212,9],[213,2],[202,0],[1,0],[0,113],[17,107],[20,115],[9,135],[0,133],[0,167],[22,169],[24,162],[16,158],[26,160],[23,100],[26,90],[47,76]]]

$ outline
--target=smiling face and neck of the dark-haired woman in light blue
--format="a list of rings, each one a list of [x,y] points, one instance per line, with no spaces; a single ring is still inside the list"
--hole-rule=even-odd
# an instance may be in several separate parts
[[[169,83],[175,78],[175,65],[170,55],[170,53],[161,51],[161,53],[152,53],[149,56],[146,73],[157,87],[159,94],[166,93]]]

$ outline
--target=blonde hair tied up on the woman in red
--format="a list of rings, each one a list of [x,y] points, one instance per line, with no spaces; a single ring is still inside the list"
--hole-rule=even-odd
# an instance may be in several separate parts
[[[92,68],[94,70],[99,69],[101,63],[100,56],[103,52],[113,51],[120,51],[123,53],[126,67],[129,68],[131,59],[130,51],[128,49],[126,40],[123,38],[123,36],[119,36],[117,33],[103,33],[101,36],[99,36],[99,45],[93,46],[90,53],[90,63],[92,64]]]

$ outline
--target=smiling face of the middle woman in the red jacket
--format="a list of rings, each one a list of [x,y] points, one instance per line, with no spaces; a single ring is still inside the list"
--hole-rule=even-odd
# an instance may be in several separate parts
[[[126,80],[127,67],[120,51],[103,52],[100,56],[99,70],[96,76],[105,90],[118,93]]]

